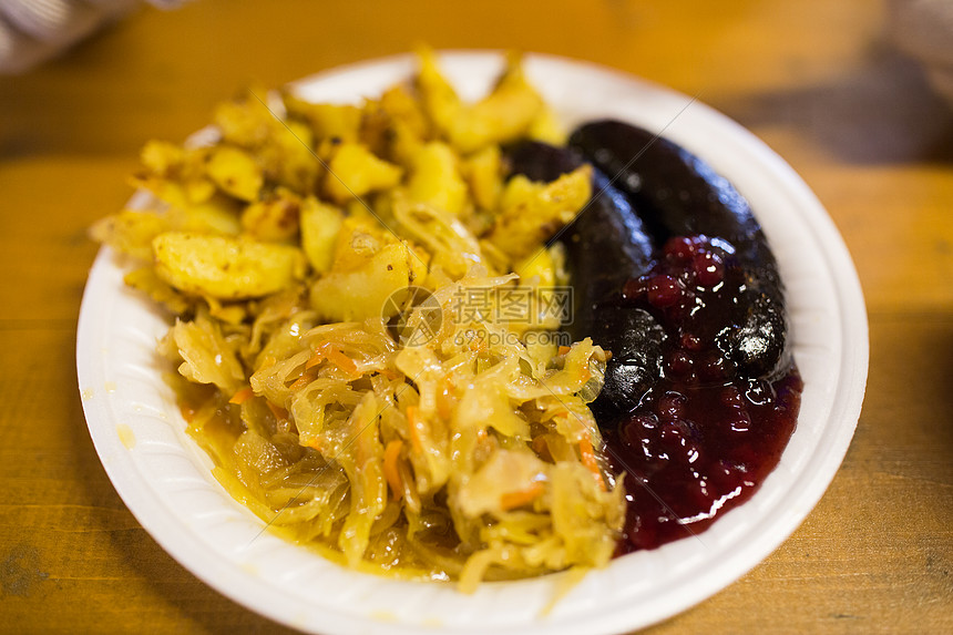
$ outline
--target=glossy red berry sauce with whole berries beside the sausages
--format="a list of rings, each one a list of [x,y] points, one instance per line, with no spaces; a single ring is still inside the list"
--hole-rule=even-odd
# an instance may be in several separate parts
[[[675,237],[623,296],[663,326],[663,377],[605,433],[625,473],[628,512],[617,554],[694,535],[748,500],[780,460],[797,423],[802,382],[744,377],[716,346],[731,328],[745,274],[718,238]]]

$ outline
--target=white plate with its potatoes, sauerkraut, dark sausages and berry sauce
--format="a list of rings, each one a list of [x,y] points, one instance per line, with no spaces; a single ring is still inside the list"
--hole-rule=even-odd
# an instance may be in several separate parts
[[[142,163],[93,228],[90,434],[173,557],[288,626],[633,631],[770,554],[850,444],[850,256],[695,99],[423,50]]]

